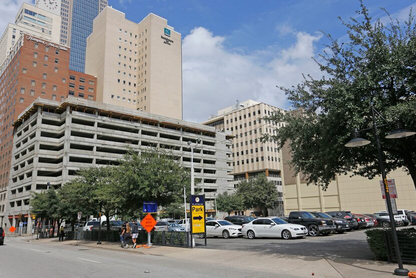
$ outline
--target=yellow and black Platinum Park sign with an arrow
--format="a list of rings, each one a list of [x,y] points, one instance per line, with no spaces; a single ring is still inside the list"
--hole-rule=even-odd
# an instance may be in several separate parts
[[[190,195],[189,208],[192,247],[194,234],[203,234],[206,246],[205,195]]]

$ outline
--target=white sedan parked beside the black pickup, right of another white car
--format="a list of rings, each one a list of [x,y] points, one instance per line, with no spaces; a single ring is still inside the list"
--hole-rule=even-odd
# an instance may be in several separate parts
[[[289,224],[278,217],[257,218],[248,224],[244,224],[242,233],[250,239],[255,237],[282,237],[291,239],[292,237],[303,237],[308,234],[305,226]]]

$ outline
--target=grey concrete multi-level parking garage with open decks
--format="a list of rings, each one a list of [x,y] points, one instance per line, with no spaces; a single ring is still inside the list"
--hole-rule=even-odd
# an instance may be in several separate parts
[[[231,134],[214,127],[155,114],[68,97],[62,102],[36,99],[14,124],[15,144],[9,184],[8,226],[19,213],[32,228],[31,191],[65,186],[80,168],[114,164],[127,146],[141,151],[171,150],[190,168],[188,141],[200,145],[193,159],[196,187],[206,194],[207,212],[215,211],[214,193],[227,191],[228,140]]]

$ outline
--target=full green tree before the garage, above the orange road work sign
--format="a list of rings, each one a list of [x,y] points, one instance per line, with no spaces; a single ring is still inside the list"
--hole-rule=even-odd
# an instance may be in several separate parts
[[[146,149],[137,153],[130,149],[119,163],[120,193],[126,211],[141,207],[144,201],[157,201],[161,207],[180,203],[183,186],[190,190],[190,171],[171,151]]]

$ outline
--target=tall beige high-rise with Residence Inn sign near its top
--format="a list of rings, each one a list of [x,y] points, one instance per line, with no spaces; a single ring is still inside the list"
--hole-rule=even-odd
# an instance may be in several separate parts
[[[85,73],[97,101],[182,119],[181,35],[149,14],[135,23],[107,7],[87,39]]]

